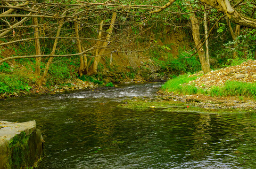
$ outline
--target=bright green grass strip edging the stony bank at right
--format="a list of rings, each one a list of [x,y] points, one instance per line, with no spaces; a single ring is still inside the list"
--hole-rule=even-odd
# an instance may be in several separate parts
[[[187,74],[170,79],[162,89],[167,92],[177,94],[204,94],[210,96],[236,96],[239,99],[249,97],[256,100],[256,83],[245,83],[237,81],[227,81],[222,86],[212,86],[210,89],[200,89],[195,84],[188,85],[187,83],[195,80],[198,77],[188,77]]]

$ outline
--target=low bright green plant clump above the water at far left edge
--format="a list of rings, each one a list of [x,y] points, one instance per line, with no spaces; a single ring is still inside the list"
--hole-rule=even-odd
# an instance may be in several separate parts
[[[29,91],[31,87],[25,77],[0,76],[0,93]]]

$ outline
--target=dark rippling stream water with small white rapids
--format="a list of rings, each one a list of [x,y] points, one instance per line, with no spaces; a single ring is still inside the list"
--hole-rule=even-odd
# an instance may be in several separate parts
[[[0,101],[0,119],[36,120],[43,169],[256,169],[256,112],[199,114],[116,107],[160,84]]]

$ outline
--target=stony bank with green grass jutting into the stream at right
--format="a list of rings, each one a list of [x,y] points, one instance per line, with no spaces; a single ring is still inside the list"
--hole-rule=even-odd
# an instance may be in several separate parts
[[[163,100],[199,108],[256,109],[256,61],[171,79],[158,92]]]

